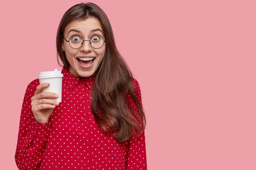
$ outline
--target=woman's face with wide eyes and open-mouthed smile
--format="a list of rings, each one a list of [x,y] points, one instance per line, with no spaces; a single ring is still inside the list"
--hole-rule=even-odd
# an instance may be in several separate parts
[[[101,22],[97,18],[86,18],[85,20],[74,20],[64,30],[64,38],[75,42],[79,41],[79,35],[83,40],[90,40],[92,37],[97,40],[101,35],[104,40]],[[63,38],[62,50],[65,51],[67,61],[70,64],[69,71],[78,78],[90,77],[95,73],[104,57],[106,43],[99,49],[94,49],[89,41],[84,41],[79,49],[73,49],[69,42]]]

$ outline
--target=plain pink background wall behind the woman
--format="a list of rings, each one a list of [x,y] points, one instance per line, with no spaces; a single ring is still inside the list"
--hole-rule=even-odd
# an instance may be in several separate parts
[[[79,2],[0,4],[1,170],[18,169],[25,89],[39,71],[60,68],[57,26]],[[141,86],[148,170],[255,170],[255,1],[91,2]]]

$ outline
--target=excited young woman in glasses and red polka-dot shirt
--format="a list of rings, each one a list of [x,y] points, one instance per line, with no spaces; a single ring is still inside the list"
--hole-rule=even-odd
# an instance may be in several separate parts
[[[66,11],[56,36],[62,102],[27,86],[18,133],[20,170],[146,170],[138,82],[117,51],[106,14],[93,3]]]

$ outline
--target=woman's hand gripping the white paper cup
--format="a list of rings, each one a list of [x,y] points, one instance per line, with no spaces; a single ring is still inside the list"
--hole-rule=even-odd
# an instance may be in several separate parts
[[[46,124],[53,109],[58,106],[59,102],[53,99],[58,98],[58,94],[52,92],[43,92],[43,89],[49,87],[49,83],[42,83],[36,87],[36,92],[31,97],[31,109],[38,121],[41,124]]]

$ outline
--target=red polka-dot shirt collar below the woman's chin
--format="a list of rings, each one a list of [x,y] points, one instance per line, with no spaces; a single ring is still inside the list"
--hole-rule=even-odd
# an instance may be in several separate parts
[[[79,79],[76,76],[72,75],[65,67],[62,68],[61,73],[63,74],[63,81],[67,84],[67,86],[72,90],[76,84],[79,82],[85,84],[90,90],[92,89],[92,84],[94,82],[94,78],[96,74],[94,73],[90,77],[84,77],[83,79]]]

